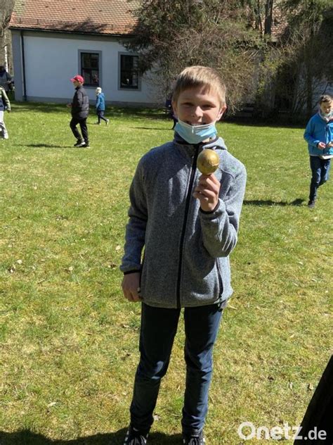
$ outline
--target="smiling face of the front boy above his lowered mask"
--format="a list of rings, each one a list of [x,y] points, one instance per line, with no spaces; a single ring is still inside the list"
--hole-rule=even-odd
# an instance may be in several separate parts
[[[206,125],[221,119],[226,105],[221,105],[218,95],[207,87],[184,89],[172,108],[177,118],[189,125]]]

